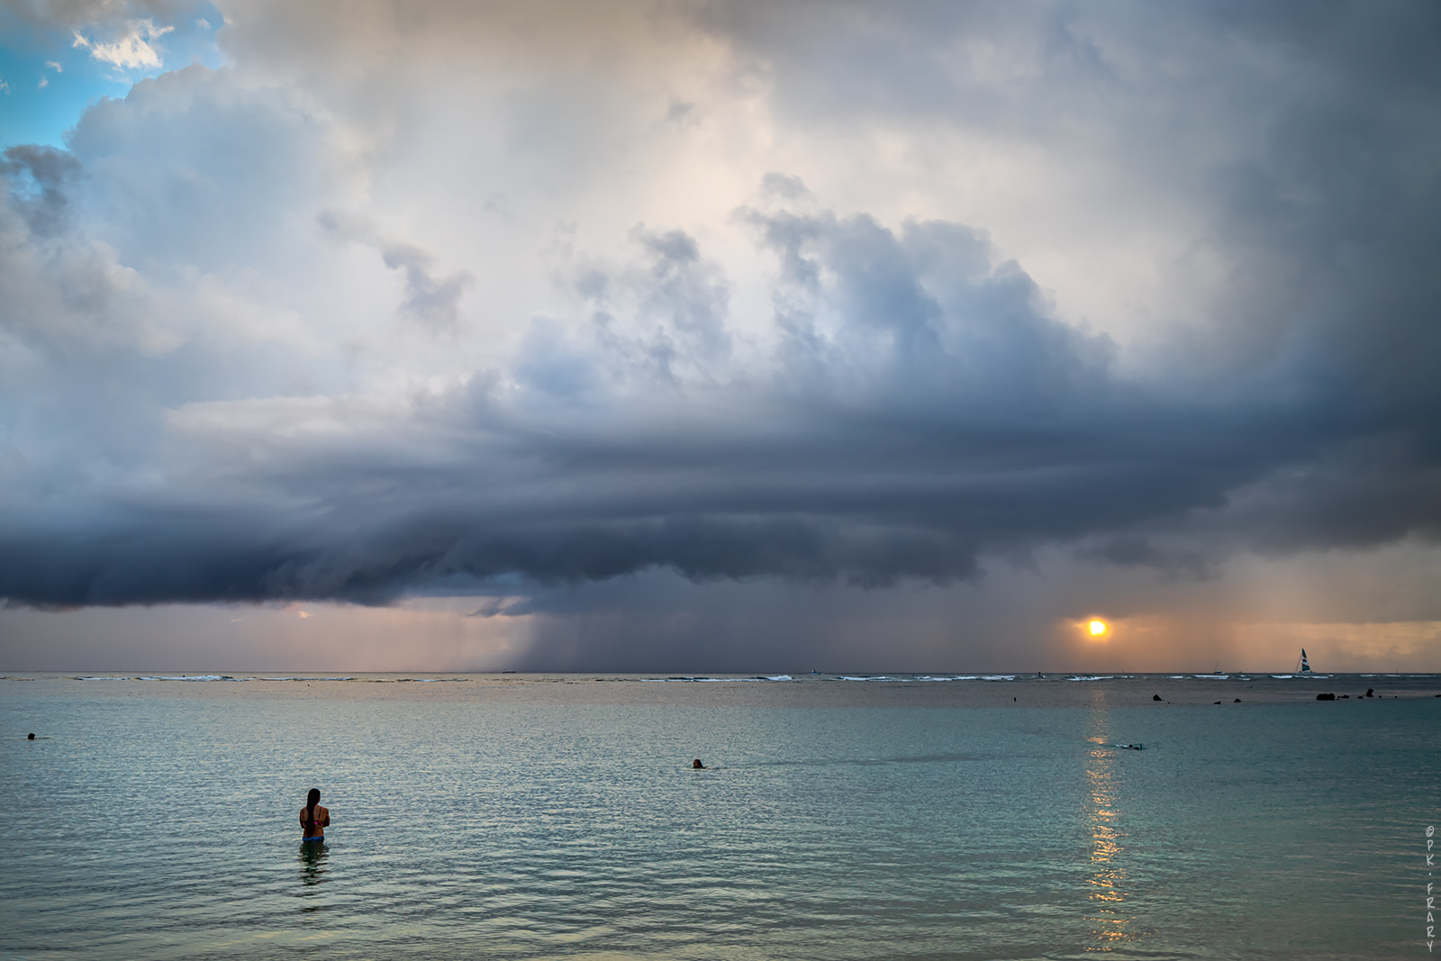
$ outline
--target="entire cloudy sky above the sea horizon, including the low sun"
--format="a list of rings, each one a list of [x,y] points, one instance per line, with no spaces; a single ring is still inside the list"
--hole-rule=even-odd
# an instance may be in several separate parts
[[[0,0],[0,669],[1441,671],[1438,49]]]

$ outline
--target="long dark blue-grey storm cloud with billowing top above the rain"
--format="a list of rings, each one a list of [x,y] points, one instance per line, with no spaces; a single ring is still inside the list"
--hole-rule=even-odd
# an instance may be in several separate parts
[[[555,392],[507,401],[477,383],[406,424],[365,426],[349,450],[236,434],[210,470],[246,497],[215,501],[197,486],[187,504],[112,501],[71,530],[12,517],[0,586],[62,605],[379,602],[458,575],[558,584],[650,568],[948,582],[976,576],[986,552],[1183,523],[1274,471],[1321,470],[1357,434],[1319,422],[1329,398],[1267,396],[1314,389],[1304,382],[1206,403],[1120,382],[1104,339],[1049,318],[1030,278],[991,265],[963,226],[752,218],[790,281],[778,291],[788,360],[764,383],[683,393],[598,337],[582,356],[610,377],[605,408],[556,411]],[[710,317],[713,291],[676,282],[695,242],[637,241],[653,264],[641,300],[680,327]],[[615,396],[627,392],[644,409]],[[197,444],[226,441],[223,416],[193,429]],[[1353,500],[1347,540],[1434,523],[1434,501],[1392,500],[1424,478],[1388,467],[1372,484],[1344,461],[1326,468]],[[1342,536],[1313,513],[1291,491],[1270,526],[1288,514],[1313,543]],[[1157,562],[1137,543],[1101,556]]]

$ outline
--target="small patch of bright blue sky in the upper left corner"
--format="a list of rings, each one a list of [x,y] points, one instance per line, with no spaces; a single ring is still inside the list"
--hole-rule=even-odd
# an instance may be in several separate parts
[[[134,23],[120,24],[117,35],[115,26],[61,29],[0,14],[0,150],[17,144],[65,147],[68,131],[101,98],[125,97],[137,82],[192,63],[218,69],[225,62],[216,43],[223,17],[209,3],[169,20],[151,19],[153,29],[141,27],[138,39],[154,62],[108,49]]]

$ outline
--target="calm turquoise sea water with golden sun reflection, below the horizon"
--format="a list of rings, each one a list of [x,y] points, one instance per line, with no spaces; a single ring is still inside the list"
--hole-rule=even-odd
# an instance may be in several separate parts
[[[0,957],[1427,955],[1441,700],[814,684],[3,680]]]

